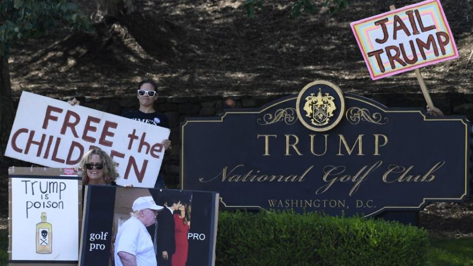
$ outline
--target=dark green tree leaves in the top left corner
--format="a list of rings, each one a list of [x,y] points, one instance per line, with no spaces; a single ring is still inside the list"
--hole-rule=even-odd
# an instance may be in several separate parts
[[[91,29],[77,5],[66,0],[1,0],[0,56],[8,56],[19,39],[46,34],[59,20],[77,31]]]

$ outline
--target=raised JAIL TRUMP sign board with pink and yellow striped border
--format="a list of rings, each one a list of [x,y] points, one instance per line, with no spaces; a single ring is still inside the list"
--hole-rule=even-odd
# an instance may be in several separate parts
[[[352,22],[373,80],[458,57],[439,0],[427,0]]]

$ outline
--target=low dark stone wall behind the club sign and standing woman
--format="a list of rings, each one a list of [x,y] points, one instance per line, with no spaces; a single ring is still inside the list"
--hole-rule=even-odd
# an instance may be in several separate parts
[[[270,101],[287,95],[258,95],[258,96],[203,96],[203,97],[175,97],[158,98],[155,109],[169,118],[172,149],[167,151],[164,159],[165,183],[169,188],[179,186],[179,124],[185,117],[216,116],[224,108],[253,108],[261,107]],[[420,107],[426,103],[422,94],[376,94],[363,95],[376,100],[388,107]],[[473,118],[473,95],[464,94],[431,94],[436,107],[445,115],[466,115]],[[64,100],[64,99],[63,99]],[[81,105],[112,114],[121,114],[127,110],[138,109],[138,101],[134,96],[114,98],[82,98]]]

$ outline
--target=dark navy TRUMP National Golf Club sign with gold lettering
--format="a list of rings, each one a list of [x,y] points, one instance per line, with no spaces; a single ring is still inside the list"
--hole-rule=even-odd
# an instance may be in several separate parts
[[[182,188],[219,191],[227,208],[349,216],[466,199],[472,127],[465,117],[431,117],[351,94],[340,100],[326,83],[260,109],[187,118]]]

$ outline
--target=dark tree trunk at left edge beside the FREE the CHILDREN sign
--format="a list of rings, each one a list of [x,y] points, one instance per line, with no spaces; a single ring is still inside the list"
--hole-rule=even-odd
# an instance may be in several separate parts
[[[10,70],[8,58],[0,56],[0,161],[4,162],[3,154],[10,136],[11,126],[15,119],[13,99],[11,98]]]

